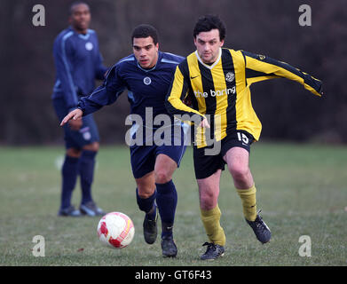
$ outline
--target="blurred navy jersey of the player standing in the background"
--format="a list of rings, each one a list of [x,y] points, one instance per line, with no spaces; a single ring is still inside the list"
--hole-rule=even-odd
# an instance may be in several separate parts
[[[64,29],[54,41],[53,56],[57,74],[52,99],[64,99],[68,109],[75,108],[79,97],[91,94],[95,79],[103,80],[106,73],[98,36],[92,29],[85,35]]]

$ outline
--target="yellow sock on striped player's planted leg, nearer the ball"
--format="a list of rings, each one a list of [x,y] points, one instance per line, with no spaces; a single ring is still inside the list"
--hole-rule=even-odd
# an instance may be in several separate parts
[[[225,231],[219,223],[222,214],[218,205],[214,209],[200,210],[201,221],[205,227],[205,231],[209,237],[209,241],[220,246],[225,246]]]

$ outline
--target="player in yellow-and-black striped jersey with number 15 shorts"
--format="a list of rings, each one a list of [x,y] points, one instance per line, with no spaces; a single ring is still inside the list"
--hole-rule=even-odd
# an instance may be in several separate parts
[[[250,145],[259,139],[262,129],[251,104],[250,85],[282,77],[301,83],[320,96],[322,83],[285,62],[222,48],[225,26],[217,16],[201,17],[193,38],[196,51],[178,65],[166,107],[177,118],[194,122],[194,171],[201,220],[209,237],[204,244],[207,250],[201,256],[205,260],[225,252],[225,233],[217,203],[225,164],[241,197],[244,217],[257,240],[266,243],[271,238],[269,227],[256,211],[256,185],[248,167]]]

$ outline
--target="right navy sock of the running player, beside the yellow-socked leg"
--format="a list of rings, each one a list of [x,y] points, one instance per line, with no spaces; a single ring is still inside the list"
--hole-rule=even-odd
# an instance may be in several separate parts
[[[171,236],[177,207],[177,191],[172,179],[166,184],[155,184],[156,202],[162,219],[162,237]]]

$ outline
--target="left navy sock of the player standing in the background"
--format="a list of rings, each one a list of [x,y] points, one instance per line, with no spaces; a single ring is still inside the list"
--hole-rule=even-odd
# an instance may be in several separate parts
[[[71,206],[71,196],[74,191],[78,175],[79,158],[65,156],[65,161],[61,169],[62,190],[60,209],[67,209]]]

